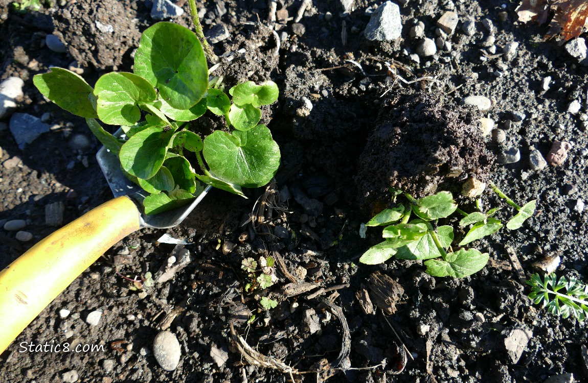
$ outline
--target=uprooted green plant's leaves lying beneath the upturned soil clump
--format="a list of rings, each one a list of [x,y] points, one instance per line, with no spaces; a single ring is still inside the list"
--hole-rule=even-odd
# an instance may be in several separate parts
[[[496,186],[492,186],[493,190],[500,191]],[[402,191],[393,190],[393,194],[396,200]],[[506,197],[502,191],[498,194],[500,197]],[[482,270],[489,255],[476,248],[463,246],[496,233],[502,228],[502,222],[493,217],[498,209],[490,209],[483,213],[480,200],[477,200],[478,211],[466,213],[458,209],[449,191],[440,191],[418,200],[408,193],[404,193],[404,196],[405,203],[398,203],[391,209],[383,210],[366,223],[366,226],[386,226],[382,231],[385,241],[369,248],[359,259],[361,263],[379,264],[393,256],[405,260],[424,260],[426,272],[435,277],[463,278]],[[512,202],[508,197],[506,199],[507,202]],[[507,223],[507,227],[520,227],[523,221],[533,214],[535,203],[533,200],[524,207],[519,207],[519,213]],[[456,247],[459,247],[456,250],[452,248],[453,227],[437,225],[440,219],[445,219],[455,212],[463,216],[459,221],[460,227],[472,226],[465,237],[456,244]],[[410,220],[412,214],[416,217]]]

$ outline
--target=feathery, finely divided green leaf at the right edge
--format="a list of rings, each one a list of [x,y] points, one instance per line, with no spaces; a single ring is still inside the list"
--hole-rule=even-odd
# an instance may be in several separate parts
[[[543,307],[552,315],[567,318],[570,314],[583,321],[588,314],[588,285],[576,278],[559,278],[553,273],[544,276],[543,280],[535,273],[526,281],[531,287],[529,298],[534,304]],[[565,293],[560,290],[565,290]]]

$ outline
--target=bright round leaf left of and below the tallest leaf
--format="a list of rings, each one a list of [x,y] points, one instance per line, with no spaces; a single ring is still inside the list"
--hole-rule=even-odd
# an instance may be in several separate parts
[[[110,125],[133,125],[141,118],[138,104],[153,102],[157,97],[147,80],[126,72],[101,76],[94,92],[98,117]]]

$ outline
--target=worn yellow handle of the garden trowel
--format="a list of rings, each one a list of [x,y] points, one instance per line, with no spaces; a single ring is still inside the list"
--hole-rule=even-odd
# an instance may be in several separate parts
[[[0,271],[0,353],[98,257],[139,230],[140,217],[131,199],[115,198],[55,231]]]

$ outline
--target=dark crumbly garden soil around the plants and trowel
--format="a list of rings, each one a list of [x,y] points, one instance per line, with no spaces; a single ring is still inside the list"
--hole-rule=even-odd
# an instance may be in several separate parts
[[[20,242],[14,232],[0,229],[0,266],[56,229],[45,221],[49,204],[64,204],[65,224],[112,197],[94,157],[98,142],[85,122],[47,102],[32,76],[49,66],[79,64],[92,85],[113,68],[131,71],[138,37],[155,23],[148,3],[56,2],[52,9],[16,14],[0,2],[0,80],[24,80],[17,112],[50,113],[53,126],[21,150],[0,125],[0,220],[25,219],[24,230],[34,234],[33,240]],[[290,381],[288,368],[311,371],[292,372],[296,381],[305,382],[326,377],[329,382],[543,382],[560,374],[588,379],[582,357],[585,322],[553,317],[534,306],[509,257],[512,249],[528,278],[533,263],[560,256],[559,276],[588,281],[588,210],[577,208],[577,200],[588,197],[588,135],[582,117],[588,105],[587,67],[563,46],[544,42],[541,28],[517,23],[517,1],[409,0],[400,6],[403,31],[393,42],[369,42],[362,35],[368,8],[382,1],[356,0],[349,14],[342,13],[341,3],[313,1],[295,25],[290,18],[301,2],[279,1],[278,20],[284,20],[276,25],[279,51],[275,35],[262,25],[268,2],[197,3],[206,8],[205,33],[223,23],[230,35],[213,46],[222,56],[214,74],[224,75],[228,86],[245,78],[279,85],[278,102],[263,111],[282,152],[275,187],[248,190],[249,199],[214,190],[180,226],[143,229],[113,246],[1,354],[0,381],[61,382],[75,370],[83,382],[269,383]],[[185,14],[174,21],[189,26],[188,5],[183,9]],[[409,54],[419,39],[410,38],[410,28],[422,21],[425,35],[435,39],[435,22],[448,10],[460,18],[455,33],[447,36],[451,50],[414,62]],[[476,21],[473,36],[461,30],[467,19]],[[492,32],[485,19],[492,21]],[[96,28],[96,21],[111,25],[113,32]],[[47,33],[68,43],[68,52],[50,51]],[[496,54],[486,43],[491,34]],[[513,41],[520,43],[517,56],[507,61],[500,53]],[[407,80],[430,76],[439,83],[403,85],[390,76],[388,63]],[[546,76],[552,80],[544,90]],[[420,93],[402,96],[407,90]],[[481,145],[475,133],[479,113],[459,106],[469,95],[493,101],[482,115],[505,130],[505,142],[485,137],[486,149]],[[568,113],[576,99],[582,109]],[[525,118],[516,121],[513,112],[524,112]],[[385,130],[392,134],[373,143]],[[451,137],[452,132],[459,134]],[[89,137],[91,147],[76,146],[76,134]],[[531,146],[546,156],[555,140],[573,143],[567,159],[532,170]],[[390,144],[399,146],[392,164],[385,157]],[[374,146],[380,159],[370,158]],[[510,147],[520,149],[519,162],[492,164],[487,150],[498,155]],[[415,166],[406,167],[410,163]],[[425,169],[430,165],[435,169]],[[452,167],[462,169],[457,180],[489,177],[519,204],[538,199],[537,214],[517,231],[505,229],[473,243],[491,260],[461,280],[430,277],[418,261],[358,264],[361,254],[381,241],[377,230],[361,238],[359,229],[370,218],[368,206],[389,199],[386,187],[397,185],[390,177],[400,177],[396,182],[403,187],[406,180],[416,181],[413,192],[419,194],[431,183],[446,186],[443,177]],[[439,173],[422,176],[422,170]],[[271,209],[259,209],[259,197]],[[490,191],[482,199],[485,207],[505,206],[497,214],[500,219],[512,216],[512,209]],[[252,222],[251,214],[264,220]],[[158,276],[169,257],[181,251],[158,241],[165,233],[191,243],[185,245],[191,261],[171,280],[137,290],[129,278],[147,272]],[[242,270],[242,261],[267,256],[283,259],[285,268],[275,266],[278,281],[247,291],[246,284],[255,281]],[[292,287],[291,281],[307,284]],[[316,285],[327,291],[314,294]],[[277,307],[263,310],[262,297],[278,301]],[[62,309],[71,311],[68,317],[59,316]],[[94,310],[102,317],[91,326],[85,318]],[[255,320],[248,324],[250,315]],[[231,325],[252,350],[274,362],[256,365],[244,357]],[[181,360],[171,372],[152,354],[153,338],[162,328],[181,345]],[[104,349],[21,352],[22,342]],[[224,352],[226,358],[219,357]],[[279,366],[277,360],[282,367],[270,368]]]

